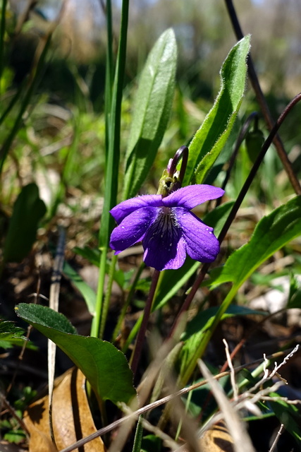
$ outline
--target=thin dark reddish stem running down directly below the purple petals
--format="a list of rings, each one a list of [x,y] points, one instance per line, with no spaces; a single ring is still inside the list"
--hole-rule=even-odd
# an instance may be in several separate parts
[[[159,270],[154,270],[154,273],[152,275],[152,284],[149,289],[149,295],[147,297],[147,302],[145,304],[145,311],[143,313],[143,319],[140,326],[139,333],[137,335],[136,343],[135,343],[135,349],[132,355],[132,359],[130,362],[130,367],[132,368],[134,376],[137,372],[137,367],[140,361],[140,356],[142,352],[143,343],[145,341],[145,335],[147,333],[147,323],[149,322],[149,316],[152,311],[152,302],[154,299],[154,293],[156,292],[156,286],[158,284],[160,272]]]

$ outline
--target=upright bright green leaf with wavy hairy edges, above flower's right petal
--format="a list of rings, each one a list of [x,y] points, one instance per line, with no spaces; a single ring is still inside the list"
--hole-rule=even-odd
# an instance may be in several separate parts
[[[221,67],[221,89],[190,143],[183,185],[190,184],[192,179],[202,184],[226,144],[245,91],[249,50],[250,35],[247,35],[235,44]]]

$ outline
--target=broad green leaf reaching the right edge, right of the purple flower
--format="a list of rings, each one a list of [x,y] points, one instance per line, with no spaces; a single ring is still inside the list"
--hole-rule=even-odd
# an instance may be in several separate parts
[[[210,272],[209,285],[242,283],[278,249],[301,234],[301,196],[288,201],[259,221],[250,242],[241,246],[221,268]]]

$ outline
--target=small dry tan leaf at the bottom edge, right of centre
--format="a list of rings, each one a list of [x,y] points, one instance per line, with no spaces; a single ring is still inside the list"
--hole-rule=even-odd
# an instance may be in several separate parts
[[[214,425],[199,439],[204,452],[233,452],[233,439],[224,425]]]

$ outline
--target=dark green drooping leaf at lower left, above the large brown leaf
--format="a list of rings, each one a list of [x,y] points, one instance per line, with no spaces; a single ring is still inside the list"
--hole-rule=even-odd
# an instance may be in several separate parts
[[[16,314],[35,326],[74,362],[99,398],[129,403],[136,392],[133,373],[120,350],[98,338],[75,334],[65,316],[38,304],[18,304]]]

